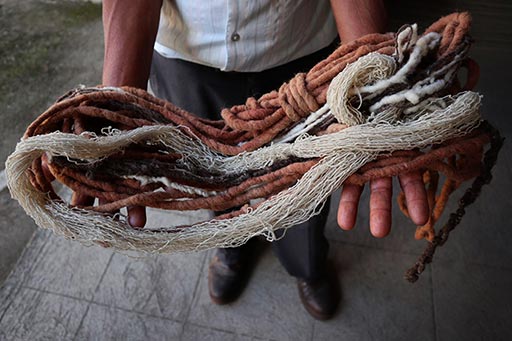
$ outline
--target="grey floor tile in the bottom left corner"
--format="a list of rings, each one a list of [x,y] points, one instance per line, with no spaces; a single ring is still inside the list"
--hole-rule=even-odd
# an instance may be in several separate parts
[[[0,321],[1,340],[71,340],[87,302],[23,288]]]

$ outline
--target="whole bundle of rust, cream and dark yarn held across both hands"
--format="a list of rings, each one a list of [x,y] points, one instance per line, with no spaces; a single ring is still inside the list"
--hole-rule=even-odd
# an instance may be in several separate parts
[[[467,58],[469,26],[467,13],[455,13],[423,34],[407,25],[364,36],[278,91],[224,109],[219,121],[140,89],[75,89],[28,127],[8,158],[11,195],[40,227],[67,238],[175,252],[237,246],[258,235],[272,241],[277,229],[317,214],[343,184],[421,171],[430,220],[415,237],[429,245],[408,272],[414,281],[489,181],[501,143],[482,124],[481,96],[469,90],[478,78]],[[54,179],[100,204],[70,205]],[[466,199],[436,233],[450,194],[470,179]],[[403,194],[398,201],[407,214]],[[135,205],[236,209],[189,226],[142,229],[111,213]]]

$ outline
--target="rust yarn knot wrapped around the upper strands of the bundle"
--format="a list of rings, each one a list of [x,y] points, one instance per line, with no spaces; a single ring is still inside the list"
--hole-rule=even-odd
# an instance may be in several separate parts
[[[293,122],[300,121],[320,108],[315,96],[307,89],[305,73],[299,73],[290,82],[281,85],[279,104]]]

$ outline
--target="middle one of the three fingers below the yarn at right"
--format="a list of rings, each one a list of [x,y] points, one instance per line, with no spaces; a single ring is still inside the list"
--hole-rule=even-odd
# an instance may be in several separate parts
[[[391,178],[370,181],[370,231],[373,236],[382,238],[391,229]]]

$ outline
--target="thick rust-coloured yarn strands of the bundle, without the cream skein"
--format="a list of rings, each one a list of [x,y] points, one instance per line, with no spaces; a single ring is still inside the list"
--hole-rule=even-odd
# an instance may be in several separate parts
[[[470,17],[467,13],[455,13],[441,18],[425,31],[437,32],[442,37],[432,64],[433,69],[446,64],[469,44],[469,25]],[[57,130],[100,135],[103,127],[131,130],[146,125],[172,125],[180,127],[185,134],[197,137],[206,146],[224,155],[253,151],[272,143],[275,138],[282,136],[324,105],[330,82],[349,63],[371,52],[392,55],[395,44],[396,35],[388,33],[367,35],[341,45],[327,59],[309,72],[297,74],[278,91],[258,99],[249,98],[245,104],[224,109],[221,121],[197,118],[140,89],[125,87],[122,88],[123,92],[74,90],[38,117],[28,127],[25,137]],[[469,75],[464,88],[471,88],[478,79],[478,68],[471,61],[463,63]],[[460,90],[461,87],[454,83],[444,93]],[[326,122],[315,133],[329,133],[334,129],[332,123]],[[484,151],[492,138],[491,130],[483,127],[468,136],[426,150],[383,155],[363,166],[345,183],[364,185],[372,179],[421,171],[428,185],[430,219],[425,226],[418,227],[415,236],[434,243],[434,224],[444,211],[450,194],[463,182],[482,174]],[[77,193],[102,199],[104,203],[86,207],[98,212],[114,212],[126,206],[223,211],[244,205],[238,211],[217,217],[226,219],[247,212],[249,201],[270,197],[292,186],[320,161],[289,158],[264,169],[251,169],[228,176],[199,166],[184,167],[180,163],[183,158],[184,155],[169,152],[164,145],[133,144],[93,165],[55,157],[48,163],[51,174],[45,172],[39,158],[32,164],[30,177],[35,188],[49,193],[55,200],[59,197],[51,185],[53,177]],[[172,188],[163,181],[144,184],[128,176],[133,173],[170,178],[181,187]],[[439,174],[444,175],[445,180],[438,195],[441,182]],[[189,187],[208,191],[210,195],[191,192],[187,190]],[[398,196],[398,202],[400,209],[408,215],[403,193]],[[253,205],[253,208],[257,205]],[[433,251],[430,252],[433,254]],[[429,258],[424,257],[423,263],[413,271],[414,274],[421,272],[421,265],[424,267],[428,261]],[[409,279],[413,277],[411,275]]]

